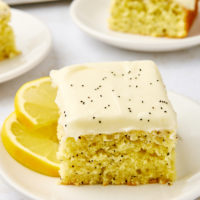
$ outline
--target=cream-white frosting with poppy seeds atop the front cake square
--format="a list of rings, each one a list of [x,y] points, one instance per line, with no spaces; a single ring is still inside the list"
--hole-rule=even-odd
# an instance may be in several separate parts
[[[66,137],[176,131],[176,114],[152,61],[92,63],[50,73]]]

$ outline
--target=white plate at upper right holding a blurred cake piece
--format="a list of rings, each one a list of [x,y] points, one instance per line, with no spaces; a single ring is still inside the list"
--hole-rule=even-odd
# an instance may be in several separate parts
[[[149,52],[174,51],[200,44],[200,15],[187,38],[168,39],[114,32],[108,29],[109,0],[75,0],[71,6],[74,22],[86,33],[113,46]]]

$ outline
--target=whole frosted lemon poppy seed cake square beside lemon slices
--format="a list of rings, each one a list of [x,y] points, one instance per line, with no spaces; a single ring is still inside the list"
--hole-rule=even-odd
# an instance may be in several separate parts
[[[176,114],[152,61],[52,71],[63,184],[174,182]]]

